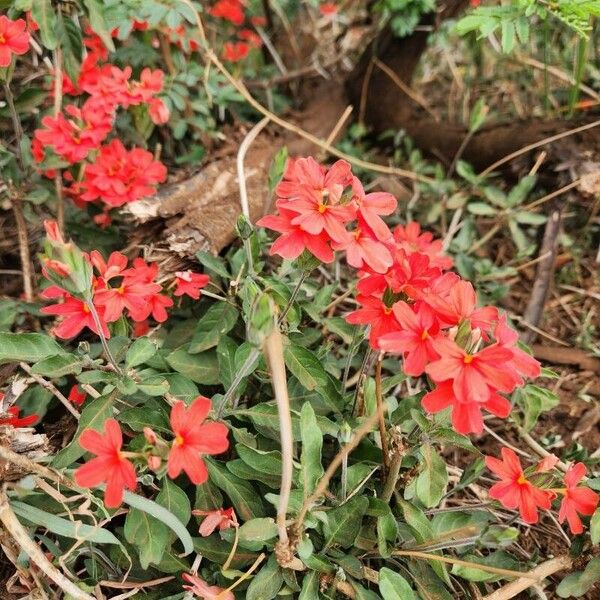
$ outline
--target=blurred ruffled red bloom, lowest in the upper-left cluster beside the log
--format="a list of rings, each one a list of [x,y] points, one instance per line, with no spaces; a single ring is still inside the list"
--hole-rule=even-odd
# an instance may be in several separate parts
[[[156,191],[156,184],[167,177],[167,169],[142,148],[125,150],[114,139],[100,148],[94,164],[85,166],[81,199],[102,200],[109,206],[122,206]]]

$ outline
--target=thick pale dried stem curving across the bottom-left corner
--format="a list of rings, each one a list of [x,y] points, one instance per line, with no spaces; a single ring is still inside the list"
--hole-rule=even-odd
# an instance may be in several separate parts
[[[29,537],[29,534],[17,519],[10,508],[8,498],[4,491],[0,492],[0,521],[11,535],[14,542],[21,548],[31,561],[49,579],[51,579],[63,592],[69,594],[75,600],[96,600],[93,596],[86,594],[67,579],[47,558],[40,547]]]

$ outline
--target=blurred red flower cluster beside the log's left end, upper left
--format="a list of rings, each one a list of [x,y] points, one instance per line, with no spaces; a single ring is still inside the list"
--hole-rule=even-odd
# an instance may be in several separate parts
[[[108,207],[122,206],[153,194],[156,185],[165,181],[167,170],[143,148],[127,151],[114,139],[105,143],[114,128],[119,107],[145,105],[152,121],[166,123],[169,110],[158,97],[163,89],[164,73],[145,68],[139,80],[132,78],[131,67],[120,69],[105,62],[108,51],[102,40],[87,29],[85,46],[88,53],[76,82],[63,75],[63,92],[70,96],[87,95],[77,107],[67,104],[56,116],[45,116],[43,128],[36,130],[32,154],[42,163],[46,150],[75,165],[82,163],[80,178],[71,181],[67,192],[76,202],[102,201]],[[50,173],[54,174],[54,172]]]

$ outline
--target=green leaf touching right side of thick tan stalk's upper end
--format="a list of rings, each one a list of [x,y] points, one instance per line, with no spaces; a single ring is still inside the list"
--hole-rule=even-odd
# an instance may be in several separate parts
[[[298,344],[290,342],[284,348],[287,368],[304,388],[316,390],[334,412],[340,412],[342,397],[317,356]]]

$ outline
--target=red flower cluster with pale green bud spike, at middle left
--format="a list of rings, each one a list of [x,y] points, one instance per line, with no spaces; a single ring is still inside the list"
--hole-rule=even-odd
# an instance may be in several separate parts
[[[64,256],[70,256],[73,245],[66,244],[56,229],[56,224],[46,222],[48,237],[58,248],[66,248],[61,257],[42,257],[44,275],[52,285],[42,292],[45,299],[61,302],[41,309],[44,314],[62,317],[54,328],[54,335],[68,339],[78,335],[85,327],[105,338],[110,337],[108,323],[129,317],[135,323],[145,323],[152,318],[158,323],[167,320],[167,309],[173,306],[163,287],[156,282],[158,264],[147,263],[141,258],[131,261],[120,252],[113,252],[108,260],[97,250],[82,254],[80,270],[89,270],[91,281],[74,286],[78,267]],[[68,264],[68,262],[71,264]],[[92,270],[93,269],[93,270]],[[85,280],[85,277],[80,279]],[[200,273],[184,271],[176,273],[167,288],[174,287],[175,296],[200,297],[200,288],[207,285],[209,277]],[[89,287],[89,294],[87,288]]]

